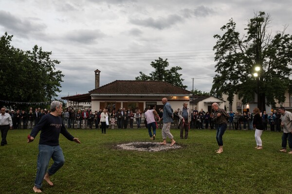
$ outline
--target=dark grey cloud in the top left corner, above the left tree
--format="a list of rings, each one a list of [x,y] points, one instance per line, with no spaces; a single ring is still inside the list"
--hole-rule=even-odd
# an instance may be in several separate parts
[[[41,32],[47,26],[41,23],[34,23],[32,22],[37,21],[37,18],[18,18],[10,14],[9,12],[5,12],[0,10],[0,25],[4,27],[6,30],[11,30],[13,33],[17,33],[22,35],[23,37],[28,37],[29,32]]]

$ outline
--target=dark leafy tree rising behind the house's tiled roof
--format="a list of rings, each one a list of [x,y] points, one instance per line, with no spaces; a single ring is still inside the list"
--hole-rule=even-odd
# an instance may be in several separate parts
[[[167,62],[167,59],[163,60],[160,57],[158,60],[155,60],[155,62],[152,61],[150,65],[155,70],[152,71],[149,76],[140,71],[140,76],[136,77],[135,80],[166,81],[183,89],[187,87],[186,85],[183,85],[184,79],[181,78],[182,74],[178,73],[179,70],[182,70],[182,67],[174,66],[170,69],[166,69],[169,63]]]

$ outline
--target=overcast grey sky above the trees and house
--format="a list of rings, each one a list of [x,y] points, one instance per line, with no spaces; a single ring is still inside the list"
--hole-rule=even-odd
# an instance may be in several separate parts
[[[292,0],[0,0],[0,35],[12,45],[52,51],[65,75],[59,97],[100,85],[134,80],[158,57],[181,66],[188,90],[209,92],[215,75],[214,34],[233,18],[244,33],[255,12],[269,13],[271,32],[292,34]]]

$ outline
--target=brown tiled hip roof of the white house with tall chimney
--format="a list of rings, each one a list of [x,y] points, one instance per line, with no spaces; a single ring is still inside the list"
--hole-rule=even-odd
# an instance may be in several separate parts
[[[190,95],[191,92],[165,81],[116,80],[89,91],[91,94],[116,95]]]

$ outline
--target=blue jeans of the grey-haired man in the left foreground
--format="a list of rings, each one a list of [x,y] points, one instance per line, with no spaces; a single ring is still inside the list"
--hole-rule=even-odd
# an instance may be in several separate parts
[[[64,165],[65,159],[62,148],[60,146],[38,145],[37,175],[35,181],[37,188],[41,188],[51,158],[54,163],[48,170],[50,176],[54,175]]]

